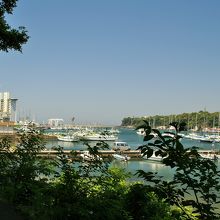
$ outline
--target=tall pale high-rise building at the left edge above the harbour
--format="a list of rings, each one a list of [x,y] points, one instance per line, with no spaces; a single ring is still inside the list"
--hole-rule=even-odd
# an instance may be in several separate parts
[[[0,93],[0,121],[16,121],[16,102],[9,92]]]

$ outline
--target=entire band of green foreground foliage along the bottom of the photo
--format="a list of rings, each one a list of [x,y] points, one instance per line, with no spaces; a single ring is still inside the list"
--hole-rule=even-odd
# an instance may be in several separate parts
[[[140,147],[152,155],[151,147],[164,157],[163,163],[176,169],[173,180],[164,181],[153,172],[138,171],[149,184],[129,183],[129,174],[110,168],[110,160],[100,159],[105,142],[91,147],[91,160],[76,160],[76,152],[43,159],[40,134],[31,131],[19,136],[12,148],[9,139],[0,141],[0,199],[12,202],[27,219],[217,219],[219,173],[212,161],[202,159],[196,148],[185,149],[174,138],[162,136],[145,121],[147,144]],[[184,124],[172,124],[177,131]],[[152,132],[158,135],[154,140]],[[192,194],[194,193],[194,194]],[[191,197],[187,197],[191,195]]]

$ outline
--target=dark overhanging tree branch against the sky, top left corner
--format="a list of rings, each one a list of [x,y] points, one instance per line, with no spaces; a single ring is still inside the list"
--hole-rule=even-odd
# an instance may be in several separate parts
[[[0,50],[17,50],[22,52],[22,45],[29,38],[25,27],[20,26],[18,29],[12,28],[5,20],[5,14],[13,14],[17,0],[0,1]]]

